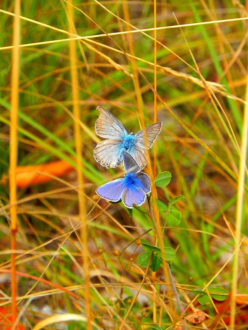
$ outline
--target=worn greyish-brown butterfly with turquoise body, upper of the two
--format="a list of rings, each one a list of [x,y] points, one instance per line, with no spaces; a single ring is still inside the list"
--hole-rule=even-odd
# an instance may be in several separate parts
[[[147,162],[145,149],[150,149],[161,131],[162,123],[151,124],[138,133],[129,133],[125,127],[106,109],[97,107],[100,115],[96,120],[96,133],[108,139],[100,142],[94,149],[94,158],[105,167],[117,167],[127,151],[143,169]]]

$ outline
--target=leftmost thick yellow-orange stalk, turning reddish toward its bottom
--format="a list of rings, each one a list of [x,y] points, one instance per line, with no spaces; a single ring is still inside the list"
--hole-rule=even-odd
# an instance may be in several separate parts
[[[15,16],[13,24],[13,49],[11,73],[11,115],[10,115],[10,216],[11,216],[11,296],[12,296],[12,321],[16,320],[16,223],[17,223],[17,122],[19,104],[19,44],[20,44],[20,0],[15,1]]]

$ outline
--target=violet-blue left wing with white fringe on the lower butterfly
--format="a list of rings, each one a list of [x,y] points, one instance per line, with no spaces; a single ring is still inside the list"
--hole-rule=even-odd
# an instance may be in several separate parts
[[[124,179],[121,178],[103,184],[101,187],[97,188],[96,193],[107,201],[118,202],[121,199],[124,187]]]

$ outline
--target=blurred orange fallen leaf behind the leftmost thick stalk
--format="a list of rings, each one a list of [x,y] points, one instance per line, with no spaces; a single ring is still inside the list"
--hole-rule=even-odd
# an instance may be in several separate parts
[[[30,185],[49,182],[53,180],[50,175],[62,177],[71,171],[74,171],[74,167],[64,160],[47,164],[17,166],[17,187],[25,188]],[[44,174],[37,172],[42,172]],[[4,177],[2,179],[4,179]],[[2,184],[4,185],[5,183],[3,182]]]

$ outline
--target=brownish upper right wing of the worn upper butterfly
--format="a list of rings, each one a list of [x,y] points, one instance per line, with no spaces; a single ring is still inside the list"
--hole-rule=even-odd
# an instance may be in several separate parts
[[[145,128],[143,128],[141,131],[139,131],[137,134],[135,134],[135,144],[137,147],[150,149],[156,140],[158,134],[160,133],[162,128],[162,122],[156,122],[153,123]]]

